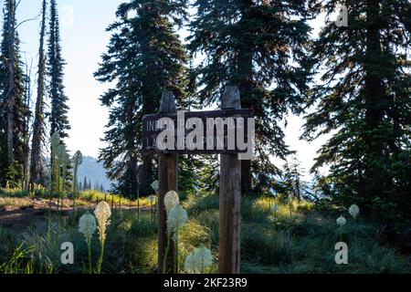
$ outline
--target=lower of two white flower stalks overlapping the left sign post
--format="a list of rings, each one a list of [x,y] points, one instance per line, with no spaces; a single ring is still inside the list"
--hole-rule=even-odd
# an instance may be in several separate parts
[[[188,219],[187,212],[184,210],[183,206],[179,203],[175,204],[174,207],[167,214],[167,247],[166,247],[164,259],[163,259],[163,271],[164,272],[165,272],[165,261],[168,256],[171,238],[173,238],[174,245],[175,245],[174,274],[178,272],[178,233],[181,230],[181,228],[186,224],[187,219]]]

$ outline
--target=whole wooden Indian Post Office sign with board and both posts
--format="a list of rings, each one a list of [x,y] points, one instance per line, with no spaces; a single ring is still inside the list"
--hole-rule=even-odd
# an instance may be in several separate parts
[[[227,87],[222,109],[181,112],[176,110],[172,92],[164,92],[158,114],[142,119],[143,151],[159,153],[158,271],[172,273],[175,263],[173,241],[166,268],[163,257],[167,244],[164,195],[177,190],[178,154],[218,153],[219,193],[219,273],[237,274],[240,266],[241,161],[250,159],[254,120],[250,110],[242,110],[237,87]],[[247,133],[247,134],[246,134]],[[254,138],[254,137],[252,137]],[[251,147],[253,149],[253,147]]]

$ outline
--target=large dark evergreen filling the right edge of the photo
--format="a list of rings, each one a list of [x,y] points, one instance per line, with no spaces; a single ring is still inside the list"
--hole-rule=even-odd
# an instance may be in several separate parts
[[[337,2],[324,2],[328,14]],[[323,82],[312,89],[304,137],[332,133],[313,167],[330,166],[324,193],[393,223],[411,214],[411,4],[343,4],[348,26],[327,25],[312,50]]]

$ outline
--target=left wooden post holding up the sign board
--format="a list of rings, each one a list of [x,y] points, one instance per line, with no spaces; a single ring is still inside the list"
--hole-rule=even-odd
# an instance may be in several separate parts
[[[176,112],[175,99],[173,92],[163,92],[162,101],[160,104],[159,113]],[[163,271],[163,258],[167,246],[167,214],[164,207],[165,193],[177,190],[177,164],[178,154],[160,154],[158,160],[158,272],[159,273],[173,273],[174,267],[174,243],[171,239],[170,248],[165,264],[165,271]]]

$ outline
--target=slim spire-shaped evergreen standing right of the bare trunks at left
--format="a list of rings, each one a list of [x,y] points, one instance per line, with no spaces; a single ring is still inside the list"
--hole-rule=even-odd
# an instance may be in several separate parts
[[[58,132],[60,138],[68,137],[68,98],[64,93],[64,65],[61,56],[60,29],[58,25],[58,8],[56,0],[50,1],[49,38],[47,52],[47,76],[49,78],[48,96],[51,100],[50,136]]]

